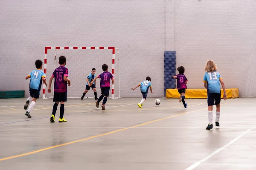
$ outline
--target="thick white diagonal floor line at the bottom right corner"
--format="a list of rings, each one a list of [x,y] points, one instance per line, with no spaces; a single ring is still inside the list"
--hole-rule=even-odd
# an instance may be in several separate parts
[[[204,163],[205,161],[207,161],[208,159],[210,159],[212,156],[216,155],[217,153],[221,152],[221,150],[226,149],[228,146],[230,146],[231,144],[233,144],[234,142],[236,142],[238,139],[240,139],[241,137],[243,137],[246,133],[250,132],[251,130],[253,130],[256,127],[253,126],[252,128],[246,130],[244,133],[242,133],[241,135],[237,136],[235,139],[233,139],[232,141],[230,141],[229,143],[227,143],[226,145],[224,145],[221,148],[218,148],[217,150],[215,150],[214,152],[212,152],[211,154],[209,154],[208,156],[206,156],[205,158],[201,159],[200,161],[195,162],[194,164],[192,164],[190,167],[186,168],[185,170],[193,170],[196,167],[198,167],[201,163]]]

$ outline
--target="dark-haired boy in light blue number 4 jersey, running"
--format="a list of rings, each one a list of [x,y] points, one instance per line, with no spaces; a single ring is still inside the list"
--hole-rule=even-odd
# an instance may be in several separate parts
[[[47,86],[45,74],[44,74],[44,71],[42,71],[43,62],[40,59],[35,61],[35,67],[37,69],[31,71],[31,73],[26,76],[26,79],[30,78],[30,82],[29,82],[30,96],[26,100],[26,103],[24,105],[25,110],[28,108],[29,102],[31,102],[31,100],[32,100],[31,104],[29,105],[29,109],[25,113],[26,116],[28,116],[28,118],[31,118],[30,112],[32,111],[33,107],[35,106],[36,100],[39,98],[42,81]]]

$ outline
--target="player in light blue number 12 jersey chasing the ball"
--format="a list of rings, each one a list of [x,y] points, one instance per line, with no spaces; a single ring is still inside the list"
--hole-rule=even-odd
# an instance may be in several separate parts
[[[131,88],[131,90],[135,90],[137,87],[140,86],[140,92],[142,93],[143,99],[138,103],[137,105],[139,108],[142,108],[143,102],[147,99],[147,94],[148,94],[148,88],[150,88],[151,93],[153,94],[154,92],[152,91],[152,85],[151,85],[151,78],[147,77],[144,82],[141,82],[139,85],[137,85],[135,88]]]

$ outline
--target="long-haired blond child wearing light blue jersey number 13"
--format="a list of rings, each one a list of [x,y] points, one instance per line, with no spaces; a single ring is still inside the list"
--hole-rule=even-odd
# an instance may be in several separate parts
[[[223,97],[224,100],[227,100],[227,94],[224,82],[221,78],[221,75],[217,72],[217,67],[215,62],[209,60],[205,65],[204,70],[204,87],[207,89],[207,103],[208,103],[208,120],[209,124],[206,127],[207,130],[212,129],[212,106],[216,105],[216,120],[215,125],[220,126],[219,119],[221,115],[221,86],[223,88]]]

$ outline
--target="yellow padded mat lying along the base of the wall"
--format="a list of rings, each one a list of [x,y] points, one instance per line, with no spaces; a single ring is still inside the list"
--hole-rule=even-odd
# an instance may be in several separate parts
[[[227,88],[226,89],[227,98],[238,98],[239,90],[238,88]],[[223,97],[223,90],[221,89],[221,98]],[[166,99],[168,98],[180,98],[180,94],[175,89],[166,89]],[[207,99],[206,89],[186,89],[186,98],[196,98],[196,99]]]

